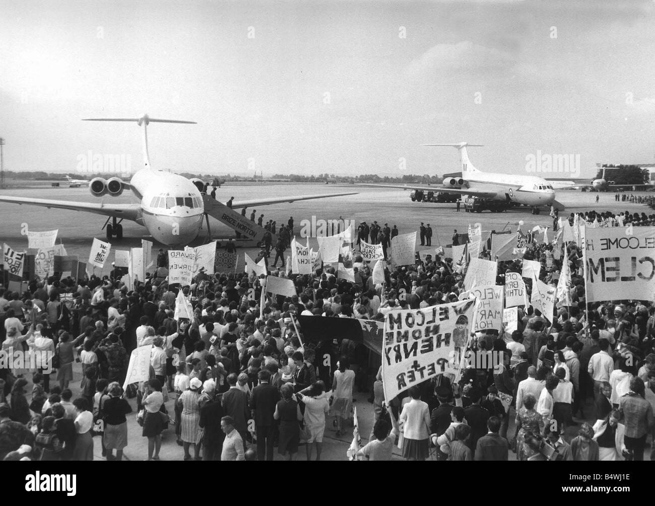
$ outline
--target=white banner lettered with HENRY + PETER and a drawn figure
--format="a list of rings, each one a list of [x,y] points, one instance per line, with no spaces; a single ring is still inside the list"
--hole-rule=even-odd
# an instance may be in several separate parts
[[[434,378],[457,374],[476,305],[474,299],[384,315],[384,399]]]

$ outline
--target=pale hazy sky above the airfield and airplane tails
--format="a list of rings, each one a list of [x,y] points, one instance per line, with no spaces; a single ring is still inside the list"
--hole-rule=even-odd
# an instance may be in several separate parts
[[[1,1],[5,169],[202,174],[655,162],[655,2]]]

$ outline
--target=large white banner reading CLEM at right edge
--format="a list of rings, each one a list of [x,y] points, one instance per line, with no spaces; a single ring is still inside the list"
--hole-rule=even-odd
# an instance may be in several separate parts
[[[587,302],[653,300],[655,227],[591,228],[584,233]]]

